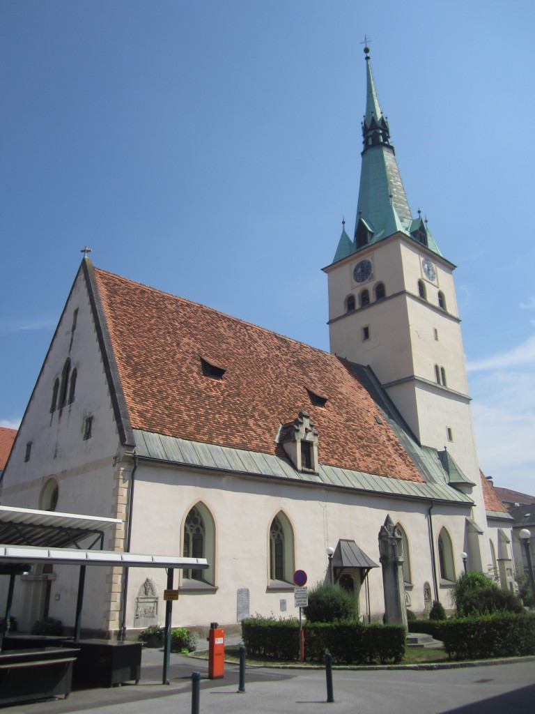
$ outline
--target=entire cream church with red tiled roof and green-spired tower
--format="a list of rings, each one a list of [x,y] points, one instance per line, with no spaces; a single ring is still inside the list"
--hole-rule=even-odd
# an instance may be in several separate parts
[[[1,481],[1,503],[118,518],[106,550],[184,555],[173,626],[290,616],[293,574],[382,618],[378,535],[396,526],[416,613],[466,566],[513,582],[511,518],[481,476],[455,287],[414,217],[365,49],[355,232],[328,279],[330,353],[84,257]],[[76,574],[16,580],[22,629],[72,625]],[[85,628],[162,624],[165,573],[98,568]]]

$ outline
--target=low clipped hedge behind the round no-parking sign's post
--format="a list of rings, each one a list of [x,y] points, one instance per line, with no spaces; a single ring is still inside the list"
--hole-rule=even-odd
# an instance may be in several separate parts
[[[402,625],[362,624],[355,620],[305,625],[305,657],[322,662],[326,652],[334,663],[397,663],[405,651]],[[250,655],[277,660],[299,657],[297,620],[248,618],[242,620],[242,638]]]

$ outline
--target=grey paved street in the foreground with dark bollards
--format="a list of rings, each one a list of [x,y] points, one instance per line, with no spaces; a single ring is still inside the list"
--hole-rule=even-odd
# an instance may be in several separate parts
[[[170,685],[161,684],[163,653],[143,653],[138,685],[75,691],[67,700],[16,705],[10,714],[189,713],[191,673],[203,674],[200,714],[272,712],[358,714],[507,714],[535,711],[535,661],[447,670],[333,670],[335,702],[327,703],[325,671],[248,668],[238,693],[238,666],[206,679],[206,660],[171,655]]]

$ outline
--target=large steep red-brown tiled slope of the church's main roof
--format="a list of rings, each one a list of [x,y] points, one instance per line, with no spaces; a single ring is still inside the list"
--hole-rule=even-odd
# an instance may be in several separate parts
[[[305,411],[321,463],[424,481],[340,358],[112,273],[95,276],[133,428],[282,453],[280,424]],[[223,378],[204,376],[201,357]],[[307,389],[327,398],[325,408]]]

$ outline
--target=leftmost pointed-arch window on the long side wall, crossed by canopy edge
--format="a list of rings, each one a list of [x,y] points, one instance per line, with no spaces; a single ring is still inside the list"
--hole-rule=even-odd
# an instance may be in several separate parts
[[[203,503],[196,503],[185,517],[182,554],[184,558],[206,558],[210,565],[208,570],[185,568],[183,578],[213,583],[215,526],[210,511]]]

